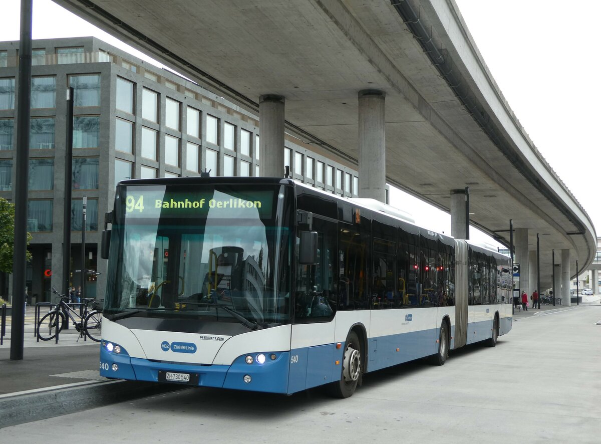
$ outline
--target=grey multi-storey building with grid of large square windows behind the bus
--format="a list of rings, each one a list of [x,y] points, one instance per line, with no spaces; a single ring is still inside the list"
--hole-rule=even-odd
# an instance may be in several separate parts
[[[120,180],[147,177],[257,176],[258,116],[174,73],[94,37],[34,40],[29,128],[27,286],[31,303],[61,288],[64,206],[70,205],[72,285],[81,285],[82,198],[87,197],[87,296],[103,297],[99,257],[104,214]],[[0,197],[14,200],[19,42],[0,43]],[[73,87],[72,201],[64,202],[66,90]],[[357,171],[285,137],[285,164],[297,182],[356,196]],[[334,176],[336,171],[336,176]],[[284,165],[282,165],[282,176]],[[343,175],[344,174],[344,175]],[[344,180],[341,180],[344,177]],[[69,182],[67,182],[69,183]],[[0,289],[8,295],[8,288]]]

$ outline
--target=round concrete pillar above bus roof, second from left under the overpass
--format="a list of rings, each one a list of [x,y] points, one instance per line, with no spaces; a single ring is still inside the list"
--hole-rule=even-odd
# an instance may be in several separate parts
[[[385,94],[359,91],[359,197],[386,202]]]

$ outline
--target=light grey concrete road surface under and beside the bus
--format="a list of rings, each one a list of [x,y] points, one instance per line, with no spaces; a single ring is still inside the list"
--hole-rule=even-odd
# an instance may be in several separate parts
[[[346,400],[188,389],[7,427],[0,442],[72,442],[84,430],[128,443],[598,443],[600,319],[599,305],[520,318],[496,348],[376,372]]]

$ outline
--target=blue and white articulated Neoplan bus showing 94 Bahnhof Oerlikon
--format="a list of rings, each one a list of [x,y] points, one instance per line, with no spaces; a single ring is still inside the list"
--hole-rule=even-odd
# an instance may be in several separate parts
[[[120,182],[102,256],[109,378],[346,398],[511,329],[509,257],[287,178]]]

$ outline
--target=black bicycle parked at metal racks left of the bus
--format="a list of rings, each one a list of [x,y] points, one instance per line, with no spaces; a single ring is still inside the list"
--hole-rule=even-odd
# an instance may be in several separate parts
[[[75,330],[80,334],[80,338],[83,335],[88,336],[92,341],[100,342],[100,327],[102,327],[102,310],[88,310],[88,305],[93,304],[95,298],[82,298],[84,303],[84,312],[80,315],[76,312],[73,307],[69,305],[70,298],[67,295],[59,294],[56,288],[52,288],[52,291],[58,295],[61,299],[56,308],[51,309],[46,315],[42,316],[40,322],[38,322],[37,335],[42,341],[49,341],[56,337],[56,321],[58,319],[58,332],[66,325],[67,319],[64,313],[69,315],[69,318],[73,321]],[[79,318],[79,321],[76,321]],[[79,338],[78,338],[79,341]]]

